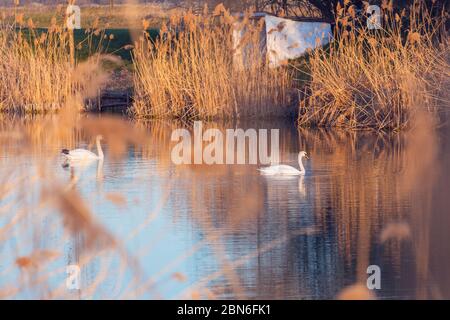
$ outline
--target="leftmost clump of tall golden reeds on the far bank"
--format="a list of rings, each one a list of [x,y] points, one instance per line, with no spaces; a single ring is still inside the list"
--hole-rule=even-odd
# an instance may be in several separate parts
[[[57,110],[71,93],[67,33],[38,34],[32,20],[17,20],[0,27],[0,110]]]

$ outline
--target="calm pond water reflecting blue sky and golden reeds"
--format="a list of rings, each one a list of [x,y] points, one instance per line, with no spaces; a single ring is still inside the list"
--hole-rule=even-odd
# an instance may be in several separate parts
[[[207,125],[279,128],[282,163],[310,154],[304,177],[281,179],[259,165],[173,164],[171,132],[192,124],[127,123],[145,138],[120,144],[120,126],[90,121],[2,125],[3,298],[332,299],[365,285],[370,265],[377,298],[450,298],[448,129]],[[61,148],[93,147],[95,130],[104,161],[64,168]]]

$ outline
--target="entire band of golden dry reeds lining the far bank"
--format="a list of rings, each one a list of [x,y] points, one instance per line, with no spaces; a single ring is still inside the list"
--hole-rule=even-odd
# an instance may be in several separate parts
[[[402,12],[384,1],[383,28],[376,31],[358,25],[355,6],[345,1],[336,8],[330,45],[277,68],[269,68],[259,53],[263,25],[250,19],[251,10],[237,20],[221,4],[199,14],[163,7],[151,7],[153,15],[139,6],[130,12],[126,6],[83,7],[89,28],[84,39],[73,40],[63,28],[61,8],[50,19],[45,6],[22,8],[12,17],[0,8],[0,111],[57,112],[68,104],[82,110],[83,101],[104,85],[105,66],[131,73],[128,113],[135,118],[298,115],[299,126],[397,131],[409,126],[418,109],[436,113],[448,106],[448,13],[436,19],[422,0]],[[91,19],[102,10],[104,16]],[[36,22],[27,16],[32,11]],[[47,20],[47,30],[38,31]],[[140,30],[127,35],[132,44],[120,42],[123,33],[109,29],[125,28],[127,20],[138,21],[130,30]],[[246,31],[237,46],[236,26]],[[245,51],[250,61],[245,68],[236,63],[235,50]],[[86,63],[102,74],[95,88],[85,88],[79,76]],[[89,77],[87,70],[81,73]]]

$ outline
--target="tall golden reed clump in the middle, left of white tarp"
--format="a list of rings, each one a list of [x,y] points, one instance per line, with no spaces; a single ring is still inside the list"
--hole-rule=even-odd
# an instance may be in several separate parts
[[[291,77],[260,54],[261,21],[237,20],[221,5],[172,16],[161,37],[136,44],[136,117],[238,118],[286,114]],[[145,25],[144,21],[144,25]],[[233,30],[245,34],[233,43]],[[145,29],[145,28],[144,28]],[[245,67],[237,63],[245,55]],[[242,55],[241,55],[242,56]]]

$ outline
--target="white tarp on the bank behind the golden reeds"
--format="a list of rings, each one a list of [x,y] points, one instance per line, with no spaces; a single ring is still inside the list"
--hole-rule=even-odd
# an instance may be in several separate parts
[[[258,16],[260,17],[260,16]],[[300,57],[307,49],[327,44],[331,39],[331,25],[325,22],[295,21],[268,14],[261,15],[265,21],[265,37],[261,41],[261,54],[267,54],[271,67],[277,67],[288,59]],[[235,30],[235,48],[244,36],[244,30]],[[245,50],[235,53],[235,64],[246,65]]]

